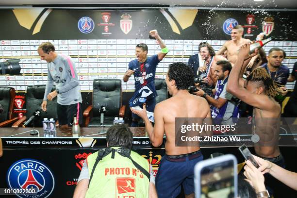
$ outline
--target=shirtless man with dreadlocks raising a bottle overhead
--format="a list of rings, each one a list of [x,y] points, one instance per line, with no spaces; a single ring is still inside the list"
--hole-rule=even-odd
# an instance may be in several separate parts
[[[239,50],[238,59],[230,73],[227,91],[253,106],[252,140],[255,143],[256,154],[284,167],[284,160],[278,146],[281,106],[274,100],[277,85],[261,67],[254,69],[244,82],[242,74],[245,67],[250,58],[258,53],[256,49],[249,55],[249,46],[250,44],[245,44]],[[265,176],[265,183],[271,195],[272,189],[276,188],[271,184],[272,178],[267,178],[269,176]],[[273,182],[275,184],[275,181]]]

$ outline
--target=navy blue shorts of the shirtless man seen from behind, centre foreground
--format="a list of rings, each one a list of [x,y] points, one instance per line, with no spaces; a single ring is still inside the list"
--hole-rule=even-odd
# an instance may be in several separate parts
[[[158,197],[177,197],[181,193],[181,185],[186,195],[194,193],[194,166],[202,160],[200,150],[178,156],[163,156],[155,178]]]

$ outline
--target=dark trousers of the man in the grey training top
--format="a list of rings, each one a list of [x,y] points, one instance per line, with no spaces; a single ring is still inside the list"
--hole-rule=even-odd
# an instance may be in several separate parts
[[[59,125],[68,125],[72,127],[73,115],[76,114],[79,124],[82,124],[82,103],[61,105],[57,104],[57,115],[59,120]]]

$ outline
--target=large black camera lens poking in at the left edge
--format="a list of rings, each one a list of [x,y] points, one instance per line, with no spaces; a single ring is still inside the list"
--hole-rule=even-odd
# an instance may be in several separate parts
[[[0,62],[0,75],[9,74],[11,76],[13,75],[19,75],[20,73],[20,66],[19,63],[20,59],[9,59],[5,62]]]

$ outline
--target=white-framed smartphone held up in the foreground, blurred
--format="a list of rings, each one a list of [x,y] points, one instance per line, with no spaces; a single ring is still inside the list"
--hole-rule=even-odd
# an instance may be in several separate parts
[[[195,198],[237,198],[237,160],[228,154],[194,167]]]

